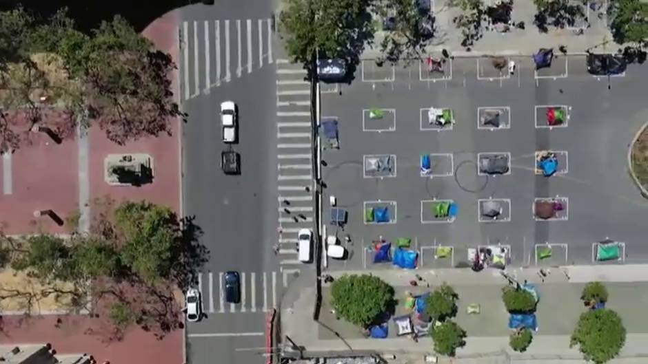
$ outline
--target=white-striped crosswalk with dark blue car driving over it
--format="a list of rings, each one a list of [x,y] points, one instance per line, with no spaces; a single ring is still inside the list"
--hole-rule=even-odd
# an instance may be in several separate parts
[[[201,292],[203,311],[210,313],[267,312],[276,308],[281,292],[290,283],[293,270],[239,272],[241,302],[225,302],[225,272],[199,272],[196,288]]]

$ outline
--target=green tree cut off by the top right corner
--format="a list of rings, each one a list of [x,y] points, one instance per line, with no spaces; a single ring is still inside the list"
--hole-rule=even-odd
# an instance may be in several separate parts
[[[618,0],[610,3],[611,25],[617,43],[645,45],[648,39],[648,3],[640,0]]]

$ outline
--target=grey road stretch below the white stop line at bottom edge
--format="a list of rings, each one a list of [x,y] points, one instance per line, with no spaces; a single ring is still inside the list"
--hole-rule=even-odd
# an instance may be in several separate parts
[[[187,341],[189,363],[265,364],[265,336],[243,334],[251,333],[190,337]]]

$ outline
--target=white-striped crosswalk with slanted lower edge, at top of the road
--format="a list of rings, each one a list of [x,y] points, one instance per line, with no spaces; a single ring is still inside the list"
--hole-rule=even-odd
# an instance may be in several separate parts
[[[183,100],[273,63],[268,19],[183,21],[179,29]]]

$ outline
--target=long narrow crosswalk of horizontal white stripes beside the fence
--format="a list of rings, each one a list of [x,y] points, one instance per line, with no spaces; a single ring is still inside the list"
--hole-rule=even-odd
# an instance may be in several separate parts
[[[301,264],[297,232],[314,226],[311,89],[302,65],[276,61],[280,264]]]

